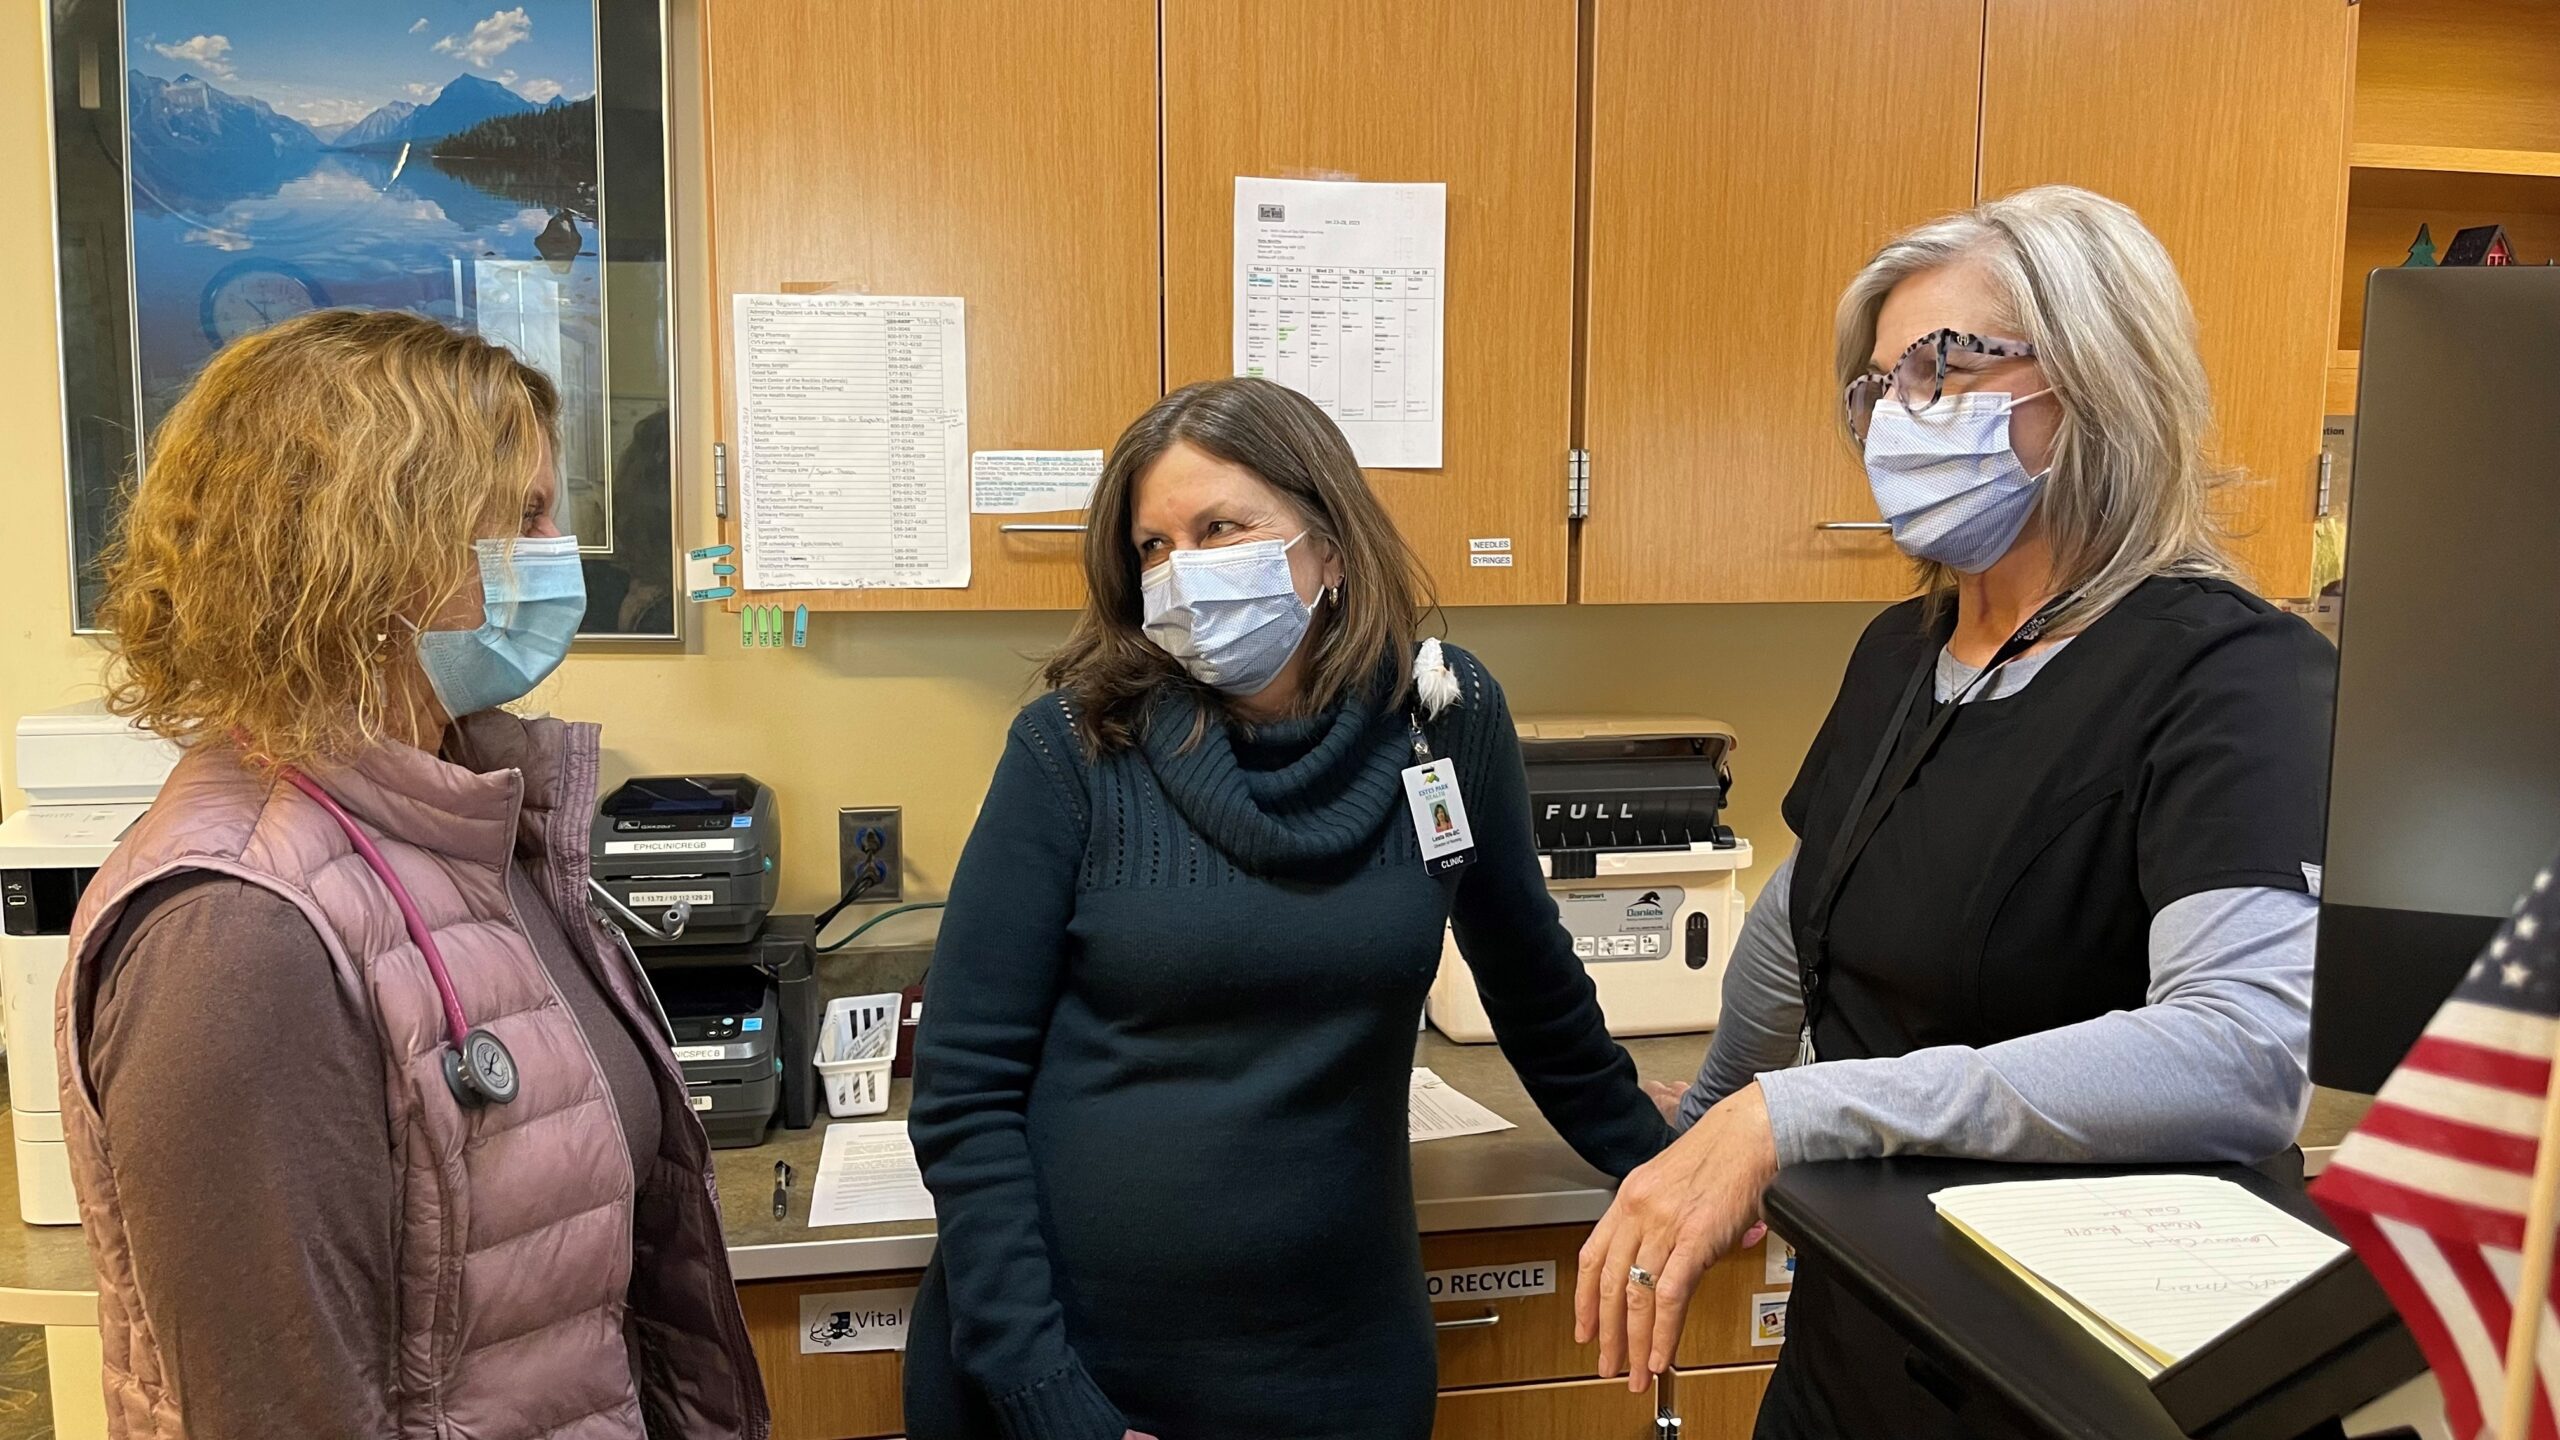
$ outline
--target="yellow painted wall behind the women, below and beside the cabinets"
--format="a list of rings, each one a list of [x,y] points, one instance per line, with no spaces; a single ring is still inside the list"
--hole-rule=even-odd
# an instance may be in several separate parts
[[[0,18],[0,725],[97,692],[97,646],[69,633],[59,372],[51,336],[51,182],[46,169],[41,0]],[[709,397],[699,131],[691,3],[676,5],[678,325],[686,338],[686,543],[709,543]],[[1605,487],[1600,505],[1608,502]],[[1677,712],[1731,723],[1731,822],[1761,848],[1759,874],[1787,848],[1777,802],[1830,702],[1841,661],[1871,615],[1864,605],[1736,605],[1644,610],[1459,610],[1449,635],[1485,656],[1513,710]],[[781,787],[791,907],[835,892],[840,805],[906,810],[911,897],[937,897],[978,794],[1027,697],[1032,661],[1065,633],[1062,615],[827,615],[806,651],[742,651],[735,623],[696,615],[684,648],[576,653],[538,702],[604,723],[607,771],[745,769]],[[8,766],[15,764],[10,753]],[[10,776],[15,779],[15,776]],[[18,805],[15,789],[8,805]]]

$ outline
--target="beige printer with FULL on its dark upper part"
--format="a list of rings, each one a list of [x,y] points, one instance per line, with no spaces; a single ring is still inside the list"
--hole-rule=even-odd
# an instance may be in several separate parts
[[[1715,1027],[1751,869],[1751,843],[1720,820],[1733,733],[1651,717],[1523,720],[1518,733],[1539,869],[1610,1035]],[[1423,1017],[1452,1040],[1492,1040],[1454,935]]]

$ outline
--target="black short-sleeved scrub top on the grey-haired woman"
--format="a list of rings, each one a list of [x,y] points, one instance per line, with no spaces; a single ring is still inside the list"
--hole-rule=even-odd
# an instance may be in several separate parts
[[[1912,600],[1866,628],[1787,792],[1797,956],[1828,953],[1823,1061],[1979,1048],[2132,1010],[2163,907],[2314,889],[2335,648],[2235,584],[2156,577],[2022,692],[1948,723],[1859,851],[1818,951],[1833,840],[1887,730],[1900,761],[1938,717],[1928,679],[1902,702],[1951,625],[1951,605],[1930,618]],[[1900,1338],[1812,1258],[1787,1330],[1761,1437],[1961,1435],[1905,1376]]]

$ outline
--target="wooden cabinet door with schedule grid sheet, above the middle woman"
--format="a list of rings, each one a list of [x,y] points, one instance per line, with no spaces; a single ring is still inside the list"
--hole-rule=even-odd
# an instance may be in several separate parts
[[[1562,602],[1574,0],[1165,0],[1162,28],[1167,384],[1234,374],[1239,174],[1444,182],[1444,464],[1370,484],[1444,602]]]

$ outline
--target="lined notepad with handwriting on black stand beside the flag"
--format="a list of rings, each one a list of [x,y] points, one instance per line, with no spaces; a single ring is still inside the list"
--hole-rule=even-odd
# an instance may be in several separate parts
[[[2145,1376],[2345,1253],[2212,1176],[1969,1184],[1930,1204]]]

